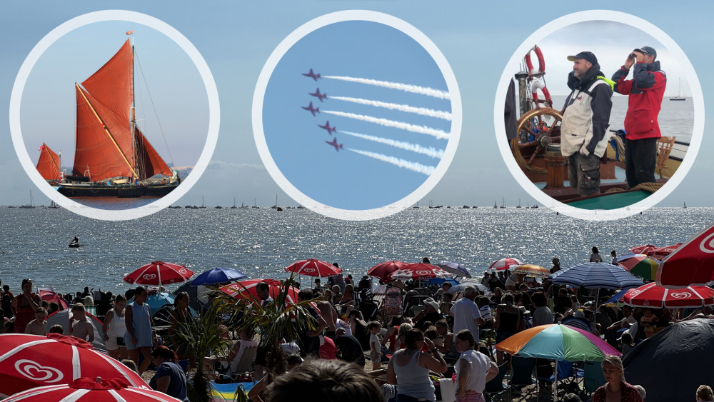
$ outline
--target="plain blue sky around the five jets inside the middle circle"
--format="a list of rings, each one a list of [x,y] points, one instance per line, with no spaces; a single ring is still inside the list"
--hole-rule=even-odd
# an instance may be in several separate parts
[[[451,101],[338,79],[301,75],[313,69],[321,76],[349,76],[413,84],[447,91],[441,71],[421,45],[391,26],[372,21],[342,21],[323,26],[303,37],[273,70],[263,102],[263,131],[273,160],[288,181],[303,194],[328,206],[371,209],[386,206],[410,194],[427,175],[357,154],[350,149],[393,156],[426,166],[441,159],[344,134],[378,136],[435,149],[447,139],[361,121],[326,111],[373,116],[428,126],[449,133],[451,121],[356,104],[333,97],[369,99],[392,104],[451,112]],[[319,101],[308,93],[317,88],[328,98]],[[312,102],[321,109],[312,116],[301,109]],[[336,127],[332,136],[318,124]],[[338,139],[336,152],[325,141]],[[298,200],[299,201],[299,200]]]

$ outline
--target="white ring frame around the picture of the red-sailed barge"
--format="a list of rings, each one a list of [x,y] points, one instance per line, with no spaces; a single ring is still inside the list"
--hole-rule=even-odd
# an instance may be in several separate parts
[[[169,39],[176,42],[176,44],[186,52],[191,61],[193,61],[193,64],[196,65],[196,69],[198,70],[198,73],[201,74],[201,79],[203,80],[203,85],[206,86],[206,94],[208,95],[208,135],[206,136],[206,144],[203,146],[201,156],[198,157],[196,166],[194,166],[191,174],[189,174],[188,178],[183,180],[181,184],[174,189],[174,191],[166,194],[166,196],[156,199],[156,201],[144,206],[131,209],[106,210],[101,208],[92,208],[90,206],[80,205],[65,196],[61,196],[61,194],[52,189],[52,187],[49,186],[49,184],[47,184],[47,182],[39,174],[31,161],[29,154],[27,153],[25,143],[22,139],[20,124],[22,92],[30,71],[32,71],[36,62],[42,54],[44,54],[44,51],[49,49],[55,41],[60,39],[65,34],[68,34],[70,31],[73,31],[81,26],[102,21],[134,22],[136,24],[149,26],[151,29],[155,29],[156,31],[168,36]],[[30,179],[32,179],[37,188],[42,191],[45,196],[52,200],[56,199],[56,203],[59,203],[60,206],[81,216],[101,219],[104,221],[124,221],[128,219],[141,218],[142,216],[147,216],[156,211],[160,211],[161,209],[171,205],[171,203],[178,201],[183,194],[186,194],[186,192],[191,189],[193,184],[196,184],[196,181],[198,181],[201,177],[203,171],[206,170],[208,162],[211,161],[213,150],[216,149],[216,142],[218,141],[218,127],[220,125],[220,120],[221,111],[218,103],[218,89],[216,88],[216,82],[213,81],[211,70],[208,69],[208,64],[206,64],[206,61],[203,60],[203,56],[201,56],[201,53],[198,52],[198,49],[196,49],[196,47],[193,46],[188,39],[186,39],[186,36],[183,36],[181,32],[177,31],[169,24],[166,24],[164,21],[134,11],[95,11],[77,16],[64,22],[64,24],[57,26],[55,29],[50,31],[49,34],[46,34],[44,38],[42,38],[30,51],[30,54],[22,63],[22,66],[20,66],[20,71],[16,76],[15,83],[12,87],[12,94],[10,96],[10,133],[12,136],[12,142],[14,144],[18,159],[28,176],[30,176]]]

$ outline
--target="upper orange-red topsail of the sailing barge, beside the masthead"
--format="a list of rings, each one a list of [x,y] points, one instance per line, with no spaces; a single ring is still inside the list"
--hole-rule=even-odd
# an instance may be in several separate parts
[[[124,46],[116,52],[114,57],[101,66],[101,69],[82,82],[94,99],[104,104],[119,118],[119,121],[131,120],[132,74],[134,59],[131,55],[131,44],[126,39]]]

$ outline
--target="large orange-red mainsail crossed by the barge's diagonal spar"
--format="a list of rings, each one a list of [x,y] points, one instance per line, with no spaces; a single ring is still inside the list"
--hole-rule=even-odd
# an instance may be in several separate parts
[[[117,176],[133,177],[130,167],[133,155],[129,124],[117,121],[105,106],[78,87],[76,152],[72,174],[88,176],[92,181]]]

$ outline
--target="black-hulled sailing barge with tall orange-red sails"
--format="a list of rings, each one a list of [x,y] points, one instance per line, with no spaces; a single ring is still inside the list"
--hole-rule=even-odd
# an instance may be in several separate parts
[[[161,159],[136,124],[134,46],[129,39],[101,69],[74,87],[74,168],[59,184],[60,194],[161,197],[181,184],[178,172]],[[147,181],[156,174],[169,177],[162,182]]]

